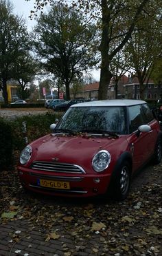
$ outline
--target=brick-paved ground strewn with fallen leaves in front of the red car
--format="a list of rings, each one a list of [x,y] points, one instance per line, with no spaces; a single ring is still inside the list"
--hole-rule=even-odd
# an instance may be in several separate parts
[[[30,194],[0,172],[0,255],[161,256],[161,169],[143,169],[124,202]]]

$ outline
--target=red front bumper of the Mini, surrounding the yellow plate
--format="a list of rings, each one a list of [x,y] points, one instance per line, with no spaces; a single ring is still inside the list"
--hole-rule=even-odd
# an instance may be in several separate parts
[[[67,197],[91,197],[106,193],[110,182],[110,173],[71,174],[36,171],[25,167],[18,167],[21,184],[30,191],[47,195],[62,195]],[[40,186],[40,180],[51,182],[67,182],[69,189]],[[49,182],[50,183],[50,182]]]

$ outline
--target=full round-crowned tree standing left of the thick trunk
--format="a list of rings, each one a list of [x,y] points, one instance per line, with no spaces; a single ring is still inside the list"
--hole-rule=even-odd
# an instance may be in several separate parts
[[[69,99],[73,78],[80,77],[93,65],[94,27],[82,25],[82,17],[77,12],[58,4],[40,15],[35,32],[36,51],[43,59],[43,67],[62,80]]]

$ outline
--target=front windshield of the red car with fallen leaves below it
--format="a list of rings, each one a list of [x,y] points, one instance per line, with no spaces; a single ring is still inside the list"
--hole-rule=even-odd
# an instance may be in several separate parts
[[[124,107],[71,107],[58,123],[58,131],[76,131],[91,134],[106,132],[126,134]]]

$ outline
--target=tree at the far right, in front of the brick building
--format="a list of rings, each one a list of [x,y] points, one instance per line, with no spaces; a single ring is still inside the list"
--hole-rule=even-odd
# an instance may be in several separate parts
[[[127,51],[130,54],[131,67],[139,80],[140,98],[144,99],[144,89],[148,84],[154,64],[161,56],[161,19],[159,6],[148,6],[148,15],[135,26],[134,32],[128,41]]]

